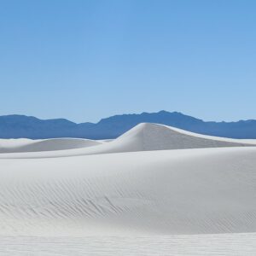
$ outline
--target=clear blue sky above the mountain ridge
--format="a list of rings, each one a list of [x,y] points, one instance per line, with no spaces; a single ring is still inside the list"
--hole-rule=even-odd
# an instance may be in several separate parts
[[[256,119],[256,1],[0,0],[0,114]]]

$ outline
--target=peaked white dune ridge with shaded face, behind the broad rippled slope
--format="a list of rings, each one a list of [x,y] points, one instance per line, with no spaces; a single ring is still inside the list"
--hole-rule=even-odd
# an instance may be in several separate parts
[[[108,154],[183,148],[222,148],[255,146],[256,140],[238,140],[211,137],[183,131],[171,126],[140,124],[110,141],[91,141],[83,139],[49,139],[11,149],[0,148],[0,158],[44,158],[88,154]],[[72,150],[65,150],[72,148]],[[90,146],[90,147],[89,147]],[[91,147],[92,146],[92,147]],[[44,148],[44,150],[39,150]],[[58,148],[59,151],[52,151]],[[51,152],[49,151],[51,150]],[[26,153],[26,151],[33,151]],[[38,152],[39,151],[39,152]],[[4,154],[13,152],[14,154]],[[20,153],[21,152],[21,153]]]

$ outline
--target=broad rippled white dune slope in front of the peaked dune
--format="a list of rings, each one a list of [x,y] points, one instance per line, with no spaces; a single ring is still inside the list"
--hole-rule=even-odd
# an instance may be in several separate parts
[[[255,155],[200,148],[2,159],[0,235],[254,232]]]

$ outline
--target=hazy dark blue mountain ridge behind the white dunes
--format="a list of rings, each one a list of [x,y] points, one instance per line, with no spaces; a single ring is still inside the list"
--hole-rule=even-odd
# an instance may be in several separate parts
[[[101,119],[98,123],[76,124],[67,119],[38,119],[26,115],[0,116],[1,138],[55,138],[80,137],[108,139],[119,137],[140,123],[170,125],[201,134],[230,137],[256,138],[256,120],[237,122],[206,122],[178,112],[132,113],[114,115]]]

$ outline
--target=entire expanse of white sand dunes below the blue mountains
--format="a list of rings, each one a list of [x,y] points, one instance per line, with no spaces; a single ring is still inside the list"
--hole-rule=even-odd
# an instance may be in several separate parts
[[[254,144],[154,124],[0,140],[0,255],[256,255]]]

